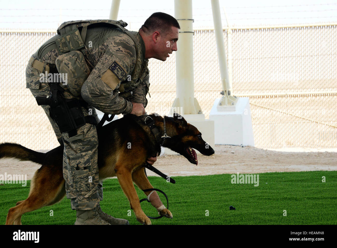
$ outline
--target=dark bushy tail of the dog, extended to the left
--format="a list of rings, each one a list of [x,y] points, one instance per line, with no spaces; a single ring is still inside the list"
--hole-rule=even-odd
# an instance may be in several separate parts
[[[2,143],[0,144],[0,159],[2,158],[16,158],[22,161],[33,161],[42,164],[45,158],[45,153],[39,153],[28,149],[16,143]]]

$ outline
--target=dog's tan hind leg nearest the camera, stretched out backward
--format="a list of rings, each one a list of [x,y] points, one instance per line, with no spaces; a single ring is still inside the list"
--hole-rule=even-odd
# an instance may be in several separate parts
[[[24,213],[60,201],[65,195],[64,184],[62,168],[61,173],[57,173],[52,168],[42,166],[35,172],[28,198],[8,210],[6,225],[21,224]]]

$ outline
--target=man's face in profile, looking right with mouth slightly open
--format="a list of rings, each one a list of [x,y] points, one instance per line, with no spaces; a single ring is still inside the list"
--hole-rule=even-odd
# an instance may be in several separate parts
[[[157,36],[156,54],[155,59],[165,61],[167,57],[170,57],[173,51],[177,51],[177,40],[179,36],[179,29],[171,27],[171,31]]]

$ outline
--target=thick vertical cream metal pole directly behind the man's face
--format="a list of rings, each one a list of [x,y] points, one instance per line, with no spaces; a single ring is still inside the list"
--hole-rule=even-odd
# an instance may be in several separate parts
[[[180,30],[176,52],[177,101],[173,106],[182,107],[182,114],[197,114],[194,106],[192,0],[175,0],[174,9]]]

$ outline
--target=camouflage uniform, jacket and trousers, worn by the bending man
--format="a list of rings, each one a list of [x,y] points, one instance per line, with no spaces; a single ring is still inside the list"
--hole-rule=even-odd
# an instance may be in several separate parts
[[[80,52],[69,53],[62,53],[60,50],[60,42],[64,42],[64,35],[55,35],[29,60],[26,88],[30,89],[34,97],[49,95],[50,85],[48,82],[40,82],[40,74],[46,71],[57,73],[58,69],[59,73],[71,75],[66,85],[60,83],[65,89],[64,98],[86,101],[88,107],[82,107],[84,115],[92,114],[97,122],[99,118],[94,108],[108,114],[125,114],[132,111],[131,102],[143,103],[146,107],[149,70],[148,59],[145,59],[145,44],[138,32],[128,32],[137,39],[136,45],[134,40],[119,28],[108,25],[88,26],[84,48],[80,49]],[[132,92],[130,85],[136,86],[131,87]],[[41,106],[59,143],[64,144],[63,177],[66,181],[66,196],[71,199],[71,207],[73,210],[91,210],[103,197],[97,166],[96,127],[86,123],[77,129],[77,135],[69,137],[68,133],[60,132],[50,117],[50,106]]]

